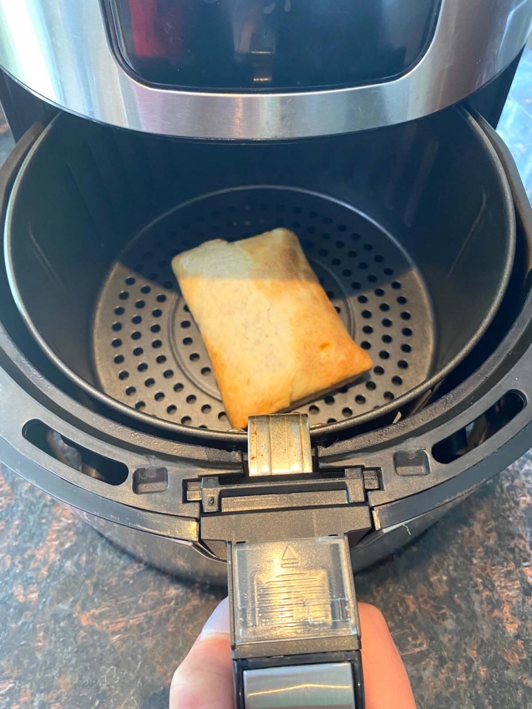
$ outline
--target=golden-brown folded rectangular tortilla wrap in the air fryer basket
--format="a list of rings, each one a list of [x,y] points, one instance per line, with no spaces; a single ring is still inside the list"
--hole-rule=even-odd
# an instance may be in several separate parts
[[[372,367],[287,229],[205,242],[174,257],[172,268],[235,428]]]

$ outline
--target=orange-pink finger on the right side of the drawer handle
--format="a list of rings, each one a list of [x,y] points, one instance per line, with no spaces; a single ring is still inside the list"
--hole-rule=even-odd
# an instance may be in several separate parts
[[[366,709],[416,709],[409,677],[384,616],[368,603],[359,603],[358,613]]]

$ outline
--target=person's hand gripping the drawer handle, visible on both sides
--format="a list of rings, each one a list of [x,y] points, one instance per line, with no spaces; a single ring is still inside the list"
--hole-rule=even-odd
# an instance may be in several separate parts
[[[382,613],[367,603],[359,603],[358,612],[366,709],[416,709],[406,669]],[[233,709],[227,598],[175,671],[170,709]]]

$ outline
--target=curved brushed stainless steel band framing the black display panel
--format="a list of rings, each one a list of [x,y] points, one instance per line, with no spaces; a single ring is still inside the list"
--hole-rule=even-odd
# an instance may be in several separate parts
[[[0,65],[80,116],[220,140],[334,135],[411,121],[460,101],[518,54],[532,0],[442,0],[431,45],[399,79],[329,91],[230,94],[147,86],[111,48],[101,0],[0,0]]]

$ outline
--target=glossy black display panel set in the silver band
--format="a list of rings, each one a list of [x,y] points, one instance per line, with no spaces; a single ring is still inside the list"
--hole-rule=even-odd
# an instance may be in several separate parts
[[[133,72],[193,89],[305,89],[397,77],[423,54],[439,0],[109,0]]]

